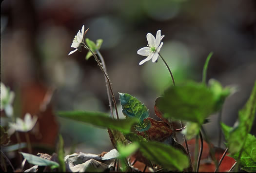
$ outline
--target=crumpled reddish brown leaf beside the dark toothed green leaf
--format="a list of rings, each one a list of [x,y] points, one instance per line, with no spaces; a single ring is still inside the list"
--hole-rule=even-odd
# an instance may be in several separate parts
[[[172,135],[172,130],[170,127],[163,121],[157,121],[153,118],[146,118],[151,122],[151,126],[146,133],[149,135],[150,140],[161,141],[166,137]],[[137,132],[137,135],[145,137],[144,133]]]

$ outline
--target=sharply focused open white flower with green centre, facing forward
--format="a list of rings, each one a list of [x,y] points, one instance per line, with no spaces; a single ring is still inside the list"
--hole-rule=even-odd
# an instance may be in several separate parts
[[[152,62],[156,62],[158,60],[158,53],[163,45],[163,42],[161,42],[163,37],[164,36],[161,36],[161,30],[158,30],[157,32],[157,38],[155,38],[151,33],[147,34],[147,47],[143,47],[137,52],[138,55],[146,56],[147,58],[140,61],[139,65],[142,65],[150,59],[152,59]]]

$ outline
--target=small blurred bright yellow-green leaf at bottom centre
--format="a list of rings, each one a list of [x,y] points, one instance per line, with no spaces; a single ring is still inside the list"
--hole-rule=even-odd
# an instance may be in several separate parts
[[[119,158],[125,158],[135,153],[139,148],[137,142],[132,142],[129,145],[118,145]]]

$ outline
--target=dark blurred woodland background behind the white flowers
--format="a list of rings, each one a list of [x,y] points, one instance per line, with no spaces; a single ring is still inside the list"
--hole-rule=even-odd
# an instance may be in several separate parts
[[[96,61],[85,60],[85,49],[68,56],[83,24],[90,28],[86,38],[103,39],[100,52],[119,114],[118,92],[122,92],[137,97],[155,117],[156,98],[172,84],[161,59],[138,65],[145,58],[137,51],[147,45],[146,34],[156,36],[158,29],[165,35],[161,55],[176,83],[201,81],[205,59],[213,51],[207,80],[239,86],[225,101],[224,123],[233,126],[249,98],[256,79],[255,0],[3,0],[1,81],[16,93],[16,116],[26,112],[39,116],[31,134],[35,143],[54,150],[60,133],[66,154],[100,154],[113,148],[106,130],[55,113],[110,112]],[[47,107],[42,106],[45,102]],[[217,115],[210,119],[205,128],[217,144]],[[256,125],[251,133],[256,134]]]

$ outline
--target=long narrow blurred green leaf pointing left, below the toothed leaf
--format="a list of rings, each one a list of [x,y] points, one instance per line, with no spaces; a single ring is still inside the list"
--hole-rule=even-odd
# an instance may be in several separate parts
[[[73,119],[80,122],[89,123],[100,128],[112,128],[122,133],[129,133],[131,127],[137,122],[135,118],[129,119],[113,119],[108,114],[100,112],[87,111],[69,111],[59,112],[59,116]]]

